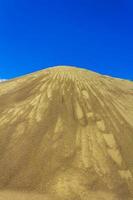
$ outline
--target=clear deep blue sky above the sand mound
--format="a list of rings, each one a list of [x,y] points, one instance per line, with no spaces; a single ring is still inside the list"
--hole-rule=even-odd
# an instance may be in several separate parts
[[[133,1],[0,0],[0,78],[53,65],[133,80]]]

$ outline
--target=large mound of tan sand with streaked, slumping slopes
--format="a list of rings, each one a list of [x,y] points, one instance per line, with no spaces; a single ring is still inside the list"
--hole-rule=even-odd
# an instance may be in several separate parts
[[[73,67],[1,83],[0,188],[52,200],[131,197],[133,83]]]

